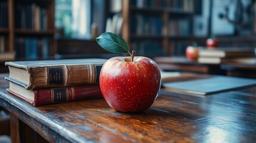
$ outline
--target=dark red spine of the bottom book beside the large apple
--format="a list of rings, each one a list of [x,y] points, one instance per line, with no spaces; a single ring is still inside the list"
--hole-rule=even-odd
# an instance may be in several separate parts
[[[47,105],[102,97],[99,84],[35,89],[33,105]]]

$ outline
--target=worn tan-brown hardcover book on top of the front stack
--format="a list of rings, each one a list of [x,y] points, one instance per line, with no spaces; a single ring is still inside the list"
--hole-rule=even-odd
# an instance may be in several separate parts
[[[53,88],[98,83],[106,59],[8,61],[11,79],[25,89]]]

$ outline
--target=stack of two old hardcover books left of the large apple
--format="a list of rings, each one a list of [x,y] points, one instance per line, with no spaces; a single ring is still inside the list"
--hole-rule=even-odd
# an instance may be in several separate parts
[[[105,59],[8,61],[11,94],[33,104],[102,97],[98,84]]]

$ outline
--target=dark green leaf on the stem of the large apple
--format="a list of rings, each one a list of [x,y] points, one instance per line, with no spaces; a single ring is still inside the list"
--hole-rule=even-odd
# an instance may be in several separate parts
[[[98,44],[106,51],[115,52],[115,53],[131,53],[128,51],[127,42],[122,39],[120,36],[115,35],[110,32],[106,32],[96,38]]]

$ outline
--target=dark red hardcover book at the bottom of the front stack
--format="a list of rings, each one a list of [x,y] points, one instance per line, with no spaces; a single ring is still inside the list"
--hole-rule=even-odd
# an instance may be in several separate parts
[[[7,89],[10,94],[17,96],[32,105],[48,105],[59,102],[80,101],[103,97],[99,84],[27,90],[16,80],[9,77],[5,77],[5,79],[10,83],[10,86]]]

